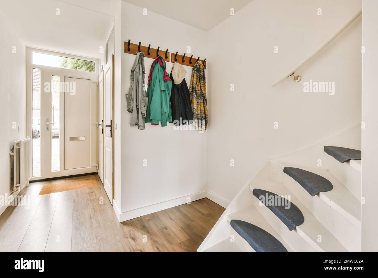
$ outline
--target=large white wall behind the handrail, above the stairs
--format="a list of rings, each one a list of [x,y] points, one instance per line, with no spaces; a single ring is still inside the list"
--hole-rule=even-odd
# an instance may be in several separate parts
[[[361,17],[297,71],[301,82],[271,87],[360,7],[359,0],[254,0],[209,31],[208,191],[231,201],[268,159],[361,121]],[[310,79],[335,82],[335,95],[304,93]]]

